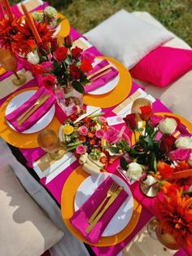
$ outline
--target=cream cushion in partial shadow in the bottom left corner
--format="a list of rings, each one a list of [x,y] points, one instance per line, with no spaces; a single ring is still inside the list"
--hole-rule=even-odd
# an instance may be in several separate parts
[[[0,170],[0,255],[39,256],[63,236],[16,179]]]

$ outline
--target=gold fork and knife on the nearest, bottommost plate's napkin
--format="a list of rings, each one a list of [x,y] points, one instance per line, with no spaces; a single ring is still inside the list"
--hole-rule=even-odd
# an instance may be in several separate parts
[[[86,228],[85,232],[89,234],[94,226],[98,223],[100,218],[102,218],[103,214],[108,210],[113,201],[116,200],[116,197],[123,190],[123,187],[120,187],[117,183],[113,182],[111,187],[107,191],[107,195],[103,199],[100,205],[98,205],[97,210],[94,211],[94,214],[88,220],[89,226]],[[108,201],[107,201],[108,200]],[[107,204],[103,207],[103,205],[107,202]],[[103,209],[102,209],[103,208]]]

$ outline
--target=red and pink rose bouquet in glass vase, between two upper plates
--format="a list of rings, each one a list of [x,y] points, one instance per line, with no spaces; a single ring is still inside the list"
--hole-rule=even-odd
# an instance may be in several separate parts
[[[57,38],[41,52],[28,55],[30,69],[40,86],[55,90],[56,99],[69,116],[75,105],[82,105],[84,86],[89,83],[87,74],[93,69],[94,55],[83,53],[78,46],[72,48],[72,40],[64,38],[59,46]]]

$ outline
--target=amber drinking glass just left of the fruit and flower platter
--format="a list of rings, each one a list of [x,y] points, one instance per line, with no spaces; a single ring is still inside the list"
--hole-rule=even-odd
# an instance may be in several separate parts
[[[66,152],[54,130],[41,130],[37,137],[37,143],[43,150],[48,152],[53,160],[59,160]]]

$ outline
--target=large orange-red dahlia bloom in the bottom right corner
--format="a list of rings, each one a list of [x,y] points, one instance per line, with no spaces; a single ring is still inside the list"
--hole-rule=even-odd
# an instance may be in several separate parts
[[[192,190],[177,183],[161,183],[157,196],[157,237],[170,249],[192,247]]]

